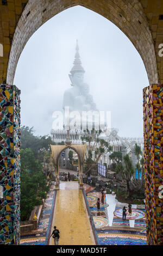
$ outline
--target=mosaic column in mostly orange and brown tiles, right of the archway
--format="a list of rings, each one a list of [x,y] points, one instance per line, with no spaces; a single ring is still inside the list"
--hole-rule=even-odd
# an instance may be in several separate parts
[[[143,89],[145,194],[148,245],[163,245],[162,84]]]

